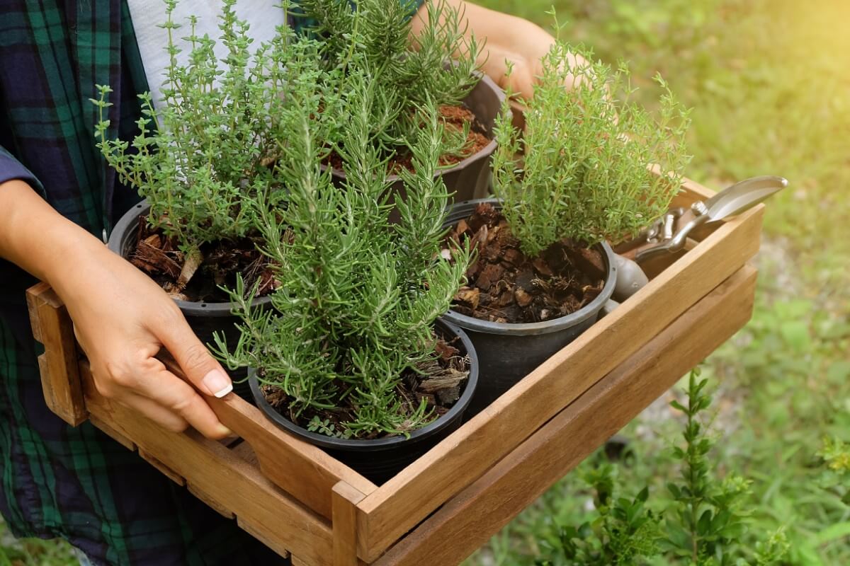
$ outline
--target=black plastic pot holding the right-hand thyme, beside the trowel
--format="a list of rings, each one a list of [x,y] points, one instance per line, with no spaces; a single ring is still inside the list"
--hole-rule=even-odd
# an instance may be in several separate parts
[[[454,226],[470,216],[475,207],[483,202],[501,208],[496,199],[457,203],[451,206],[446,227]],[[602,293],[566,317],[543,322],[510,323],[479,320],[456,311],[444,315],[445,320],[467,331],[479,355],[479,387],[467,417],[475,416],[496,401],[507,389],[597,322],[600,311],[614,293],[617,270],[614,251],[609,244],[598,244],[596,249],[602,253],[608,269]]]

